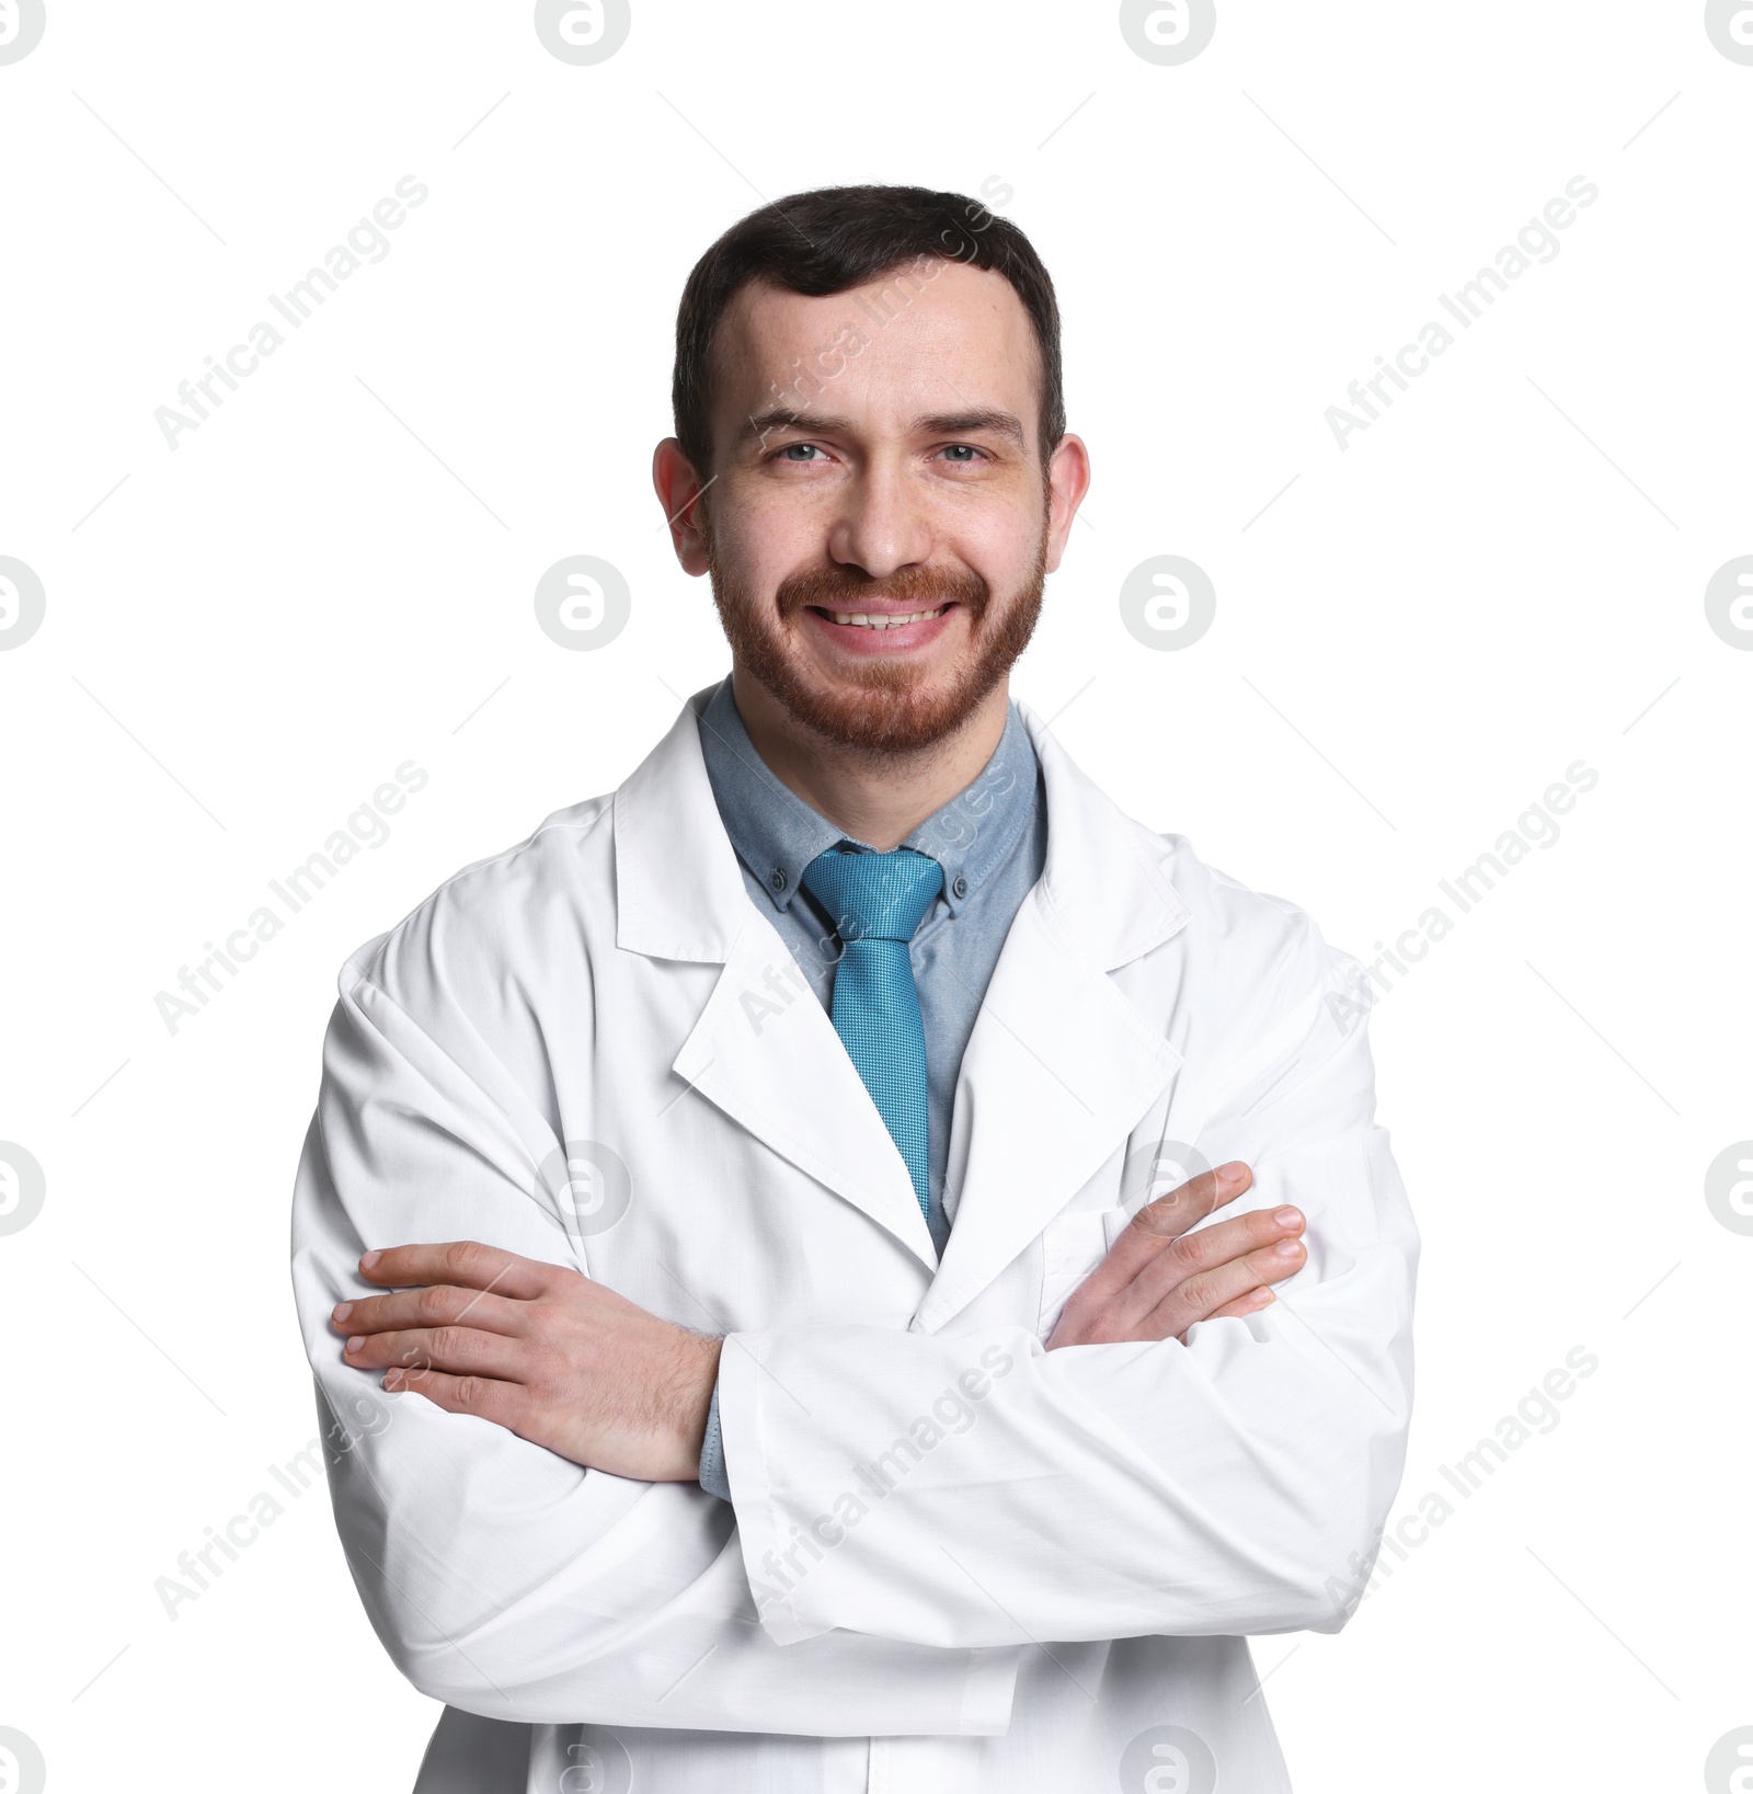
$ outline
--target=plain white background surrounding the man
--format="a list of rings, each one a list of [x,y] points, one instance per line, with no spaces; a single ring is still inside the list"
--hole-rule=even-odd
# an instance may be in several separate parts
[[[47,1175],[0,1238],[0,1726],[50,1787],[411,1785],[436,1708],[267,1471],[316,1430],[287,1202],[334,978],[725,669],[650,486],[676,298],[856,179],[983,194],[1053,273],[1095,486],[1016,691],[1129,811],[1369,960],[1599,773],[1373,1021],[1425,1241],[1396,1516],[1455,1512],[1254,1656],[1299,1794],[1697,1785],[1753,1724],[1753,1238],[1705,1200],[1753,1136],[1753,653],[1703,603],[1753,553],[1753,66],[1699,5],[1220,0],[1154,66],[1107,4],[635,0],[569,66],[526,4],[48,0],[0,170],[0,554],[47,590],[0,653],[0,1139]],[[169,448],[154,407],[409,174],[391,253]],[[1340,448],[1326,407],[1574,176],[1556,260]],[[565,554],[630,581],[601,651],[535,624]],[[1184,651],[1120,619],[1154,554],[1217,587]],[[172,1035],[154,996],[409,759],[388,843]],[[1462,1500],[1439,1466],[1577,1346]]]

